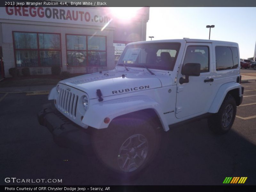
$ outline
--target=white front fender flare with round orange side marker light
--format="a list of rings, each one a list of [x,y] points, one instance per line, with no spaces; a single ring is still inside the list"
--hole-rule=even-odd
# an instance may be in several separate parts
[[[103,129],[107,128],[109,123],[118,116],[149,108],[155,110],[164,131],[168,131],[167,121],[161,115],[163,114],[162,109],[155,100],[147,96],[126,97],[95,103],[89,106],[82,123],[96,129]],[[106,117],[110,119],[108,124],[104,123],[104,118]]]

